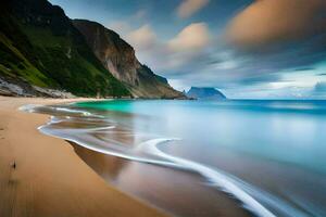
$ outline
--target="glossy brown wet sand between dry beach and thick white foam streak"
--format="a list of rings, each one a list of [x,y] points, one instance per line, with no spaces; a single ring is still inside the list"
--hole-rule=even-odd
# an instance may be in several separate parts
[[[211,189],[197,174],[137,163],[73,144],[105,181],[177,216],[251,216],[234,199]]]

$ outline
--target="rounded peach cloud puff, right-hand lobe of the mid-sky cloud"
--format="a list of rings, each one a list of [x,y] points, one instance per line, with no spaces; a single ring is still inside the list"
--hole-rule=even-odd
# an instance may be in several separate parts
[[[198,51],[210,43],[210,34],[206,24],[195,23],[185,27],[175,38],[168,41],[173,51]]]

